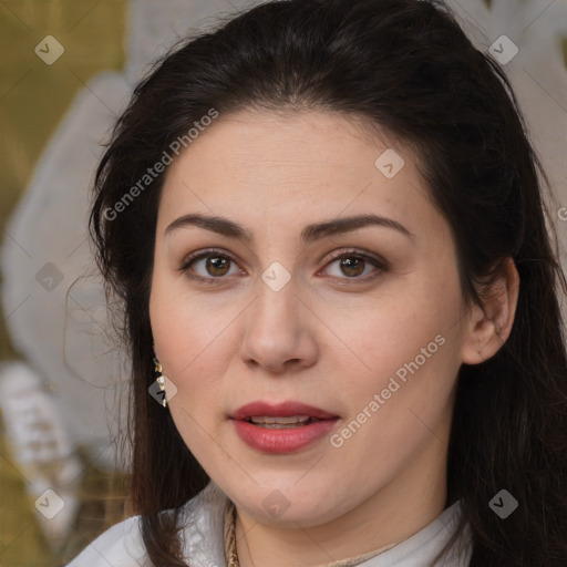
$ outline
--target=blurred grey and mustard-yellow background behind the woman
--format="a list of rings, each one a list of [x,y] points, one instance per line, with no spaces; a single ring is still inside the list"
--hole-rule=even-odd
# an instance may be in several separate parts
[[[148,64],[257,3],[0,0],[0,567],[65,565],[128,515],[130,365],[87,239],[94,168]],[[513,81],[565,267],[567,0],[449,3]]]

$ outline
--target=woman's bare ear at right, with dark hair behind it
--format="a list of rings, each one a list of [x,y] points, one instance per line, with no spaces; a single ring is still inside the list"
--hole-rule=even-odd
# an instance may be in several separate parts
[[[519,276],[512,258],[503,262],[499,276],[481,295],[468,317],[462,360],[480,364],[496,354],[512,331],[519,292]]]

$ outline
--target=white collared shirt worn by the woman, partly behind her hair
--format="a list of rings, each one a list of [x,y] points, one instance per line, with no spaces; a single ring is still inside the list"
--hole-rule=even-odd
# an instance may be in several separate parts
[[[192,567],[226,567],[224,522],[227,496],[209,484],[183,507],[182,532],[185,560]],[[413,536],[363,561],[360,567],[433,567],[431,561],[450,538],[458,519],[456,502]],[[467,526],[468,528],[468,526]],[[465,529],[464,544],[470,542]],[[455,546],[453,547],[453,549]],[[471,546],[462,555],[450,553],[439,567],[467,567]],[[66,567],[147,567],[147,556],[140,532],[140,516],[116,524],[92,542]]]

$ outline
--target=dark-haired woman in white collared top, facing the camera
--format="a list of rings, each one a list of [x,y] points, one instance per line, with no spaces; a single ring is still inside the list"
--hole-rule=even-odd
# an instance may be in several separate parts
[[[164,58],[91,217],[138,515],[71,566],[565,565],[539,171],[441,2],[267,2]]]

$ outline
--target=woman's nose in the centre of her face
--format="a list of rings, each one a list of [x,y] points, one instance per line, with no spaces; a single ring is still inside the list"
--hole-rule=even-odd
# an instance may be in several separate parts
[[[270,373],[311,367],[319,351],[317,321],[298,296],[293,278],[279,291],[258,278],[258,296],[245,315],[243,360]]]

